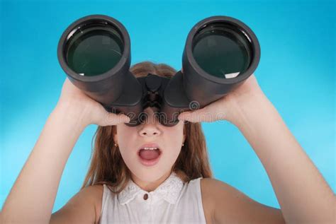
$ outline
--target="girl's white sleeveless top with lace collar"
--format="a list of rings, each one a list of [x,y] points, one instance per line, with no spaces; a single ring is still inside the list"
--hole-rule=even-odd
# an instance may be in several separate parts
[[[201,178],[184,183],[172,172],[159,187],[150,192],[141,189],[130,179],[119,194],[113,194],[103,184],[99,223],[206,223]]]

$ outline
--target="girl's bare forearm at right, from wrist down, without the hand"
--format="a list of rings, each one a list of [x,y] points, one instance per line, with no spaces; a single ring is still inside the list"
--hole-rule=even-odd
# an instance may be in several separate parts
[[[335,223],[332,189],[266,95],[237,108],[236,125],[267,171],[286,223]]]

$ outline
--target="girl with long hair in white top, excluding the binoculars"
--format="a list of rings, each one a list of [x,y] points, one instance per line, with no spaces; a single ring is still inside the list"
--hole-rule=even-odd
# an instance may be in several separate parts
[[[130,71],[172,77],[164,64],[145,61]],[[254,75],[201,110],[159,124],[155,108],[139,126],[124,123],[65,80],[60,100],[7,197],[1,223],[332,223],[335,196]],[[199,122],[235,124],[262,161],[280,209],[259,204],[213,179]],[[99,125],[82,189],[52,213],[72,148],[85,127]],[[147,147],[147,148],[146,148]],[[150,148],[150,147],[156,147]],[[159,160],[148,166],[140,157]]]

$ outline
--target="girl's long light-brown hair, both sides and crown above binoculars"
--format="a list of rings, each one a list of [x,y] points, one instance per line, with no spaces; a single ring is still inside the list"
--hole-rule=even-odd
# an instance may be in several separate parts
[[[177,71],[167,64],[154,64],[143,61],[130,67],[135,77],[147,76],[148,73],[172,78]],[[118,146],[114,145],[113,136],[116,126],[99,126],[94,134],[93,157],[82,188],[106,184],[115,194],[121,192],[130,179],[130,170],[125,165]],[[206,138],[203,134],[201,123],[186,122],[184,124],[186,141],[175,161],[172,171],[184,181],[198,177],[213,177],[208,160]]]

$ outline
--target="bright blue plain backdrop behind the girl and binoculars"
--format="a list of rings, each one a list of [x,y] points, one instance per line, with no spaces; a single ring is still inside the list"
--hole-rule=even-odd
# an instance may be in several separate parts
[[[1,207],[60,96],[60,35],[95,13],[125,25],[132,64],[150,60],[177,70],[199,20],[223,15],[249,25],[262,49],[259,85],[335,192],[335,1],[1,1]],[[215,178],[280,208],[239,129],[229,122],[202,125]],[[79,191],[96,127],[88,126],[77,141],[53,211]]]

